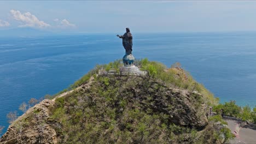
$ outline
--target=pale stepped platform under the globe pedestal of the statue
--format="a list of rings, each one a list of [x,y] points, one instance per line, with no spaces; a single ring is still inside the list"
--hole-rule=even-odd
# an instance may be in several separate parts
[[[146,71],[139,70],[138,67],[136,67],[135,65],[131,65],[130,67],[127,67],[127,65],[125,65],[124,67],[121,67],[120,73],[121,75],[141,75],[141,76],[144,76],[147,74]]]

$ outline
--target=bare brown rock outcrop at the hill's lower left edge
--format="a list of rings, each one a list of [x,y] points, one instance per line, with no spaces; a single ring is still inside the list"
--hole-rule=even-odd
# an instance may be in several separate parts
[[[11,124],[0,143],[57,143],[56,131],[49,125],[49,109],[54,101],[45,99],[31,107]]]

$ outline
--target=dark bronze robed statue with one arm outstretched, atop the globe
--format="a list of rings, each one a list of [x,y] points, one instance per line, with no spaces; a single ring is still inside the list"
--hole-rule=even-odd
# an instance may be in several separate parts
[[[126,28],[124,35],[117,35],[117,37],[123,39],[123,46],[125,48],[126,55],[130,55],[132,52],[132,34],[130,28]]]

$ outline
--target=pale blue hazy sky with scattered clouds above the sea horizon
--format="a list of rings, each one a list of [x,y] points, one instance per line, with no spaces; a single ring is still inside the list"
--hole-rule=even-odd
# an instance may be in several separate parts
[[[256,1],[0,1],[0,30],[256,31]]]

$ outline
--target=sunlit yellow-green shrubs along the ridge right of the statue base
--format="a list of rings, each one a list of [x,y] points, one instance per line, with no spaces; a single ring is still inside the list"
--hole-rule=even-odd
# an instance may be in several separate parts
[[[196,82],[187,71],[181,68],[180,63],[174,63],[171,68],[167,69],[162,63],[150,62],[147,58],[144,58],[139,64],[141,64],[141,70],[148,71],[149,77],[189,91],[197,91],[204,96],[208,105],[218,104],[218,98],[214,98],[214,95],[208,89],[201,83]]]

